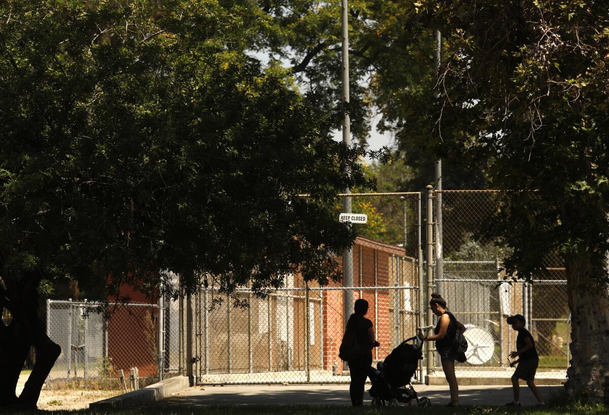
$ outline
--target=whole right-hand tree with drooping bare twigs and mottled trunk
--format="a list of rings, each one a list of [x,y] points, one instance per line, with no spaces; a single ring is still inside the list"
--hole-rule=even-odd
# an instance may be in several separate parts
[[[440,98],[418,116],[442,157],[489,160],[502,190],[488,235],[509,274],[546,273],[559,252],[572,316],[571,397],[609,402],[609,18],[594,1],[425,2],[412,30],[449,49]]]

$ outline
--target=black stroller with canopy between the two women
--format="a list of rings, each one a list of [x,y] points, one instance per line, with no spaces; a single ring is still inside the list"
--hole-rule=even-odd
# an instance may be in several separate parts
[[[415,344],[409,341],[415,340]],[[370,375],[372,386],[368,393],[372,397],[373,406],[398,406],[400,403],[412,405],[415,400],[418,406],[429,408],[431,401],[428,397],[417,396],[410,378],[417,372],[418,361],[423,358],[421,342],[417,337],[411,337],[401,342],[392,350],[384,361],[376,366],[378,370]],[[407,388],[404,388],[404,386]]]

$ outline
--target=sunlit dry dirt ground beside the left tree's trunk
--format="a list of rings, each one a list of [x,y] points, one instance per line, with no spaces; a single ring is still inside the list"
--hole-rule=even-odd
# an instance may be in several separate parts
[[[22,374],[17,384],[17,394],[23,390],[29,373]],[[120,395],[121,391],[82,391],[78,389],[63,389],[54,391],[43,386],[38,399],[38,409],[47,411],[79,410],[88,408],[91,402]]]

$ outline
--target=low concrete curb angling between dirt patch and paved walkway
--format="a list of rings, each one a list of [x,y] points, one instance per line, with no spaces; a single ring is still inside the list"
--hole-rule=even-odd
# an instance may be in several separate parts
[[[107,410],[110,408],[128,408],[130,406],[142,405],[144,403],[153,403],[167,396],[171,396],[171,394],[174,392],[181,392],[188,389],[188,386],[188,377],[176,376],[153,383],[152,385],[138,389],[137,391],[128,392],[126,394],[90,403],[89,409]]]

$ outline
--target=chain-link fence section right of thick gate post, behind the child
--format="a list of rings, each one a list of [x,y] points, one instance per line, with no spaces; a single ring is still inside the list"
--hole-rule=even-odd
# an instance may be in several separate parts
[[[496,211],[498,193],[434,194],[440,202],[434,212],[434,288],[468,327],[468,360],[457,363],[457,377],[504,377],[513,371],[508,355],[516,350],[517,333],[505,319],[523,314],[540,355],[537,376],[564,378],[569,364],[569,310],[565,269],[557,255],[546,258],[549,272],[531,283],[505,282],[499,258],[509,252],[480,235]],[[439,227],[438,216],[442,217]],[[438,356],[435,371],[443,376]]]

